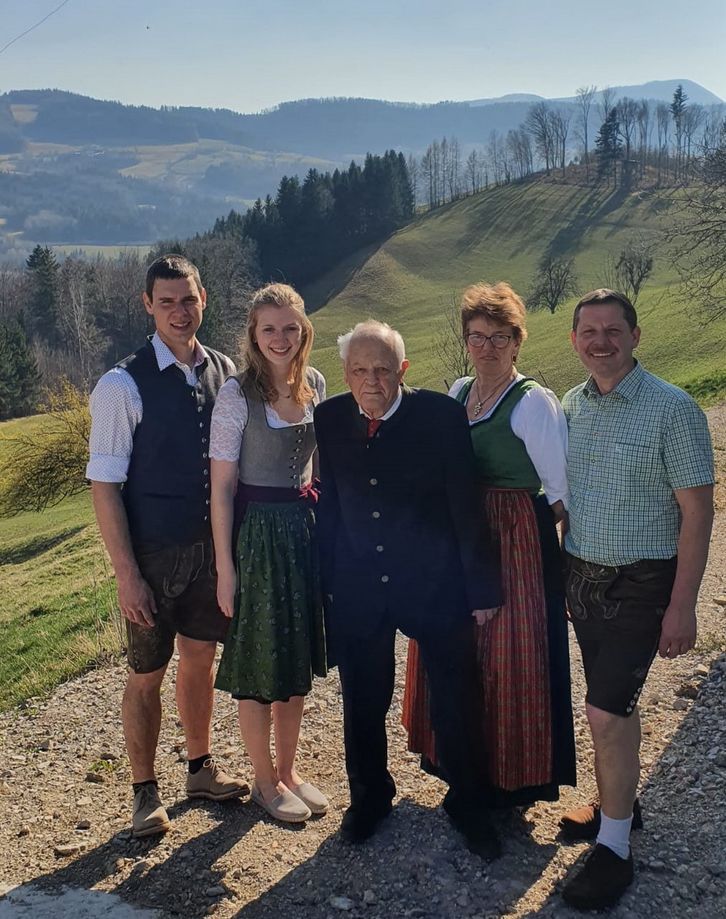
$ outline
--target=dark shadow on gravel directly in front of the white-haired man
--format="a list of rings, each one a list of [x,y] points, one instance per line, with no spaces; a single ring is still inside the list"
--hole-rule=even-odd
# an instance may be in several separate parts
[[[486,863],[469,853],[443,811],[401,800],[363,845],[329,836],[235,919],[367,919],[506,913],[539,879],[556,852],[538,845],[518,815],[500,816],[504,856]]]

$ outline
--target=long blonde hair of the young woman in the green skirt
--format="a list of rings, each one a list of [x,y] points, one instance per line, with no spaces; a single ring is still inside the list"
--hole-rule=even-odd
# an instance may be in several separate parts
[[[305,304],[301,295],[289,284],[267,284],[264,288],[255,291],[249,312],[247,312],[247,322],[244,326],[242,339],[244,370],[238,379],[244,375],[247,380],[250,380],[265,402],[273,403],[278,399],[279,393],[270,378],[267,358],[263,357],[254,337],[257,313],[266,306],[277,306],[279,308],[289,306],[290,310],[300,320],[302,326],[301,344],[300,350],[292,358],[290,394],[292,400],[298,405],[307,405],[312,400],[312,387],[307,379],[307,370],[314,332],[312,323],[305,314]]]

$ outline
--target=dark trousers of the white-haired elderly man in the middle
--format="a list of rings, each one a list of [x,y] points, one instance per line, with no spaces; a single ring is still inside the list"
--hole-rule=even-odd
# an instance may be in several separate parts
[[[470,633],[471,622],[462,618],[415,635],[428,675],[437,754],[449,785],[445,807],[460,824],[473,823],[480,816],[474,804],[478,768],[465,693]],[[395,636],[396,626],[389,616],[374,631],[351,631],[336,641],[350,801],[362,810],[388,807],[396,790],[388,771],[386,737]]]

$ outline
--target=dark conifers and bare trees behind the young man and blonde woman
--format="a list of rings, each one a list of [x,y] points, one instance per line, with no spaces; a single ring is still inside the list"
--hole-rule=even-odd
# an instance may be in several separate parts
[[[369,154],[346,171],[283,176],[278,193],[244,214],[231,211],[207,233],[136,249],[59,258],[37,244],[24,267],[0,266],[0,418],[35,410],[40,383],[69,380],[88,391],[151,331],[140,298],[148,264],[180,252],[207,289],[204,342],[229,350],[249,294],[263,279],[300,287],[346,255],[384,238],[414,214],[405,158]]]

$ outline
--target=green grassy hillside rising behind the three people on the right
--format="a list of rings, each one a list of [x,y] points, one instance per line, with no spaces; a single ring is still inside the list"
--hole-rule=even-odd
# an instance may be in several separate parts
[[[335,336],[372,316],[403,334],[411,360],[407,380],[442,389],[433,342],[441,334],[441,314],[453,290],[460,293],[482,279],[507,280],[525,295],[539,256],[550,244],[559,255],[574,257],[583,292],[599,287],[607,255],[617,254],[631,233],[657,239],[673,194],[626,195],[540,182],[482,192],[428,213],[305,291],[312,309],[324,302],[313,317],[313,361],[328,378],[330,391],[339,391],[343,382]],[[669,288],[674,280],[667,253],[661,251],[638,302],[639,355],[649,369],[708,403],[726,392],[721,373],[726,323],[703,324],[698,315],[685,312]],[[569,340],[575,301],[555,315],[530,316],[519,360],[523,372],[541,374],[560,394],[584,373]]]

